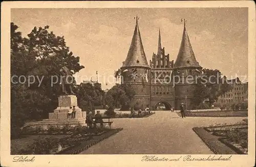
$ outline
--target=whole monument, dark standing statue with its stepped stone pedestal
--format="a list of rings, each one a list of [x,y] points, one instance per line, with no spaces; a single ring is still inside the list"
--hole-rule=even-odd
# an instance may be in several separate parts
[[[27,123],[26,126],[36,125],[86,125],[86,111],[82,111],[77,106],[77,98],[73,92],[73,77],[70,70],[64,66],[60,69],[60,85],[62,88],[62,95],[58,97],[58,107],[49,113],[49,119]],[[70,107],[75,108],[75,118],[68,118],[68,111]]]

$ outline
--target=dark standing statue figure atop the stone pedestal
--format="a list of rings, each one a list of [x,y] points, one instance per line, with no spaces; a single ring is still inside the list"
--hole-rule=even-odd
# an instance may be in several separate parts
[[[64,94],[75,94],[73,92],[73,83],[75,81],[69,68],[66,66],[63,66],[60,68],[59,72],[61,75],[60,84],[62,87],[62,92]]]

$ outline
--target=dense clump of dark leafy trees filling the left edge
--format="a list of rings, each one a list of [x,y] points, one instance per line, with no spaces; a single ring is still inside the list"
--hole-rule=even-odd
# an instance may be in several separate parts
[[[23,38],[18,26],[11,22],[11,131],[17,131],[27,120],[47,118],[48,113],[57,107],[60,95],[58,82],[52,85],[52,76],[58,76],[60,67],[67,66],[75,74],[84,66],[79,57],[73,56],[63,37],[55,36],[45,28],[35,27],[28,38]],[[18,82],[18,77],[42,77],[39,82],[28,85]]]

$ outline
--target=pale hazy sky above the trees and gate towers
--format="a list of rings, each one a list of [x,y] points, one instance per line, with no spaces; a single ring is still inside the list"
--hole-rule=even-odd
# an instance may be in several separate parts
[[[11,21],[27,37],[34,27],[50,26],[64,36],[73,55],[85,66],[77,82],[98,80],[102,89],[115,83],[131,45],[138,15],[147,62],[157,52],[158,30],[171,60],[179,51],[183,22],[196,59],[203,68],[219,69],[228,79],[248,75],[248,8],[76,8],[12,9]],[[108,84],[105,84],[108,82]],[[110,83],[112,82],[112,83]]]

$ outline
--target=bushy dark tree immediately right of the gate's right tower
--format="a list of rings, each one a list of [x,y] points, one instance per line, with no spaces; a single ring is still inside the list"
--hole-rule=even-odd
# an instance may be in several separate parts
[[[231,86],[221,78],[218,69],[203,69],[203,74],[197,78],[196,88],[193,92],[192,103],[198,106],[205,99],[208,99],[209,107],[214,104],[218,97],[227,92]]]

